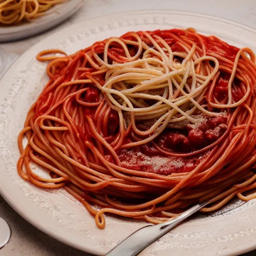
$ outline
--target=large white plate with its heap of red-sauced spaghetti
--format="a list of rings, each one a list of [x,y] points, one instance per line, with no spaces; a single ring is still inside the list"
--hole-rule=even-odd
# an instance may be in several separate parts
[[[209,199],[141,255],[255,248],[254,38],[215,17],[140,11],[42,40],[1,79],[1,194],[97,255]]]

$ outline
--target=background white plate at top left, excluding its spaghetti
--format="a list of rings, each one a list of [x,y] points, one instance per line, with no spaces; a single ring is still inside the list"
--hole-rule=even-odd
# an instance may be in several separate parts
[[[0,42],[13,41],[41,33],[61,23],[74,14],[82,5],[83,0],[66,0],[56,4],[45,12],[45,15],[21,22],[13,26],[0,26]]]

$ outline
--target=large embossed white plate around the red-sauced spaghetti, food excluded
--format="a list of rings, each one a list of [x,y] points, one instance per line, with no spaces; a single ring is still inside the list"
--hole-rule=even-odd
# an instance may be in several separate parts
[[[74,24],[43,39],[26,51],[0,80],[0,193],[25,219],[45,233],[84,251],[103,255],[145,225],[125,218],[106,217],[101,230],[94,218],[63,190],[39,189],[16,172],[16,137],[29,106],[47,76],[46,63],[35,55],[45,48],[72,53],[109,36],[130,30],[194,27],[223,40],[256,49],[256,31],[223,19],[176,11],[140,11],[102,16]],[[256,203],[233,201],[211,215],[196,216],[148,246],[140,255],[237,255],[256,248]]]

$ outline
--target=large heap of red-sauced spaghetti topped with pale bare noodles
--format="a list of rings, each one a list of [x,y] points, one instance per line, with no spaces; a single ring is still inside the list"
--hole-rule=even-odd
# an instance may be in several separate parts
[[[211,200],[207,212],[256,197],[243,194],[256,187],[251,49],[188,28],[128,32],[37,59],[50,60],[49,81],[18,136],[18,173],[66,189],[98,227],[104,213],[159,223],[198,201]]]

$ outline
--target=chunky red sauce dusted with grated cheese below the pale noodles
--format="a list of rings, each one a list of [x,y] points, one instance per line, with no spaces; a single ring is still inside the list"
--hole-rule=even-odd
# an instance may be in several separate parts
[[[186,125],[184,130],[165,130],[155,139],[160,147],[172,152],[185,153],[202,148],[218,139],[227,129],[226,116],[205,117],[195,124]],[[194,156],[166,156],[161,154],[152,143],[119,152],[121,166],[139,171],[162,175],[188,172],[208,154],[203,152]]]

